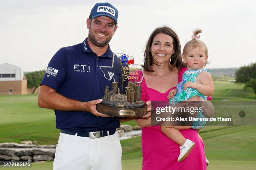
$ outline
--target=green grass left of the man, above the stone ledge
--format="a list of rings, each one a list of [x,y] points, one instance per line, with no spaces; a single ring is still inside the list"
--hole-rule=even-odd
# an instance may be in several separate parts
[[[0,143],[35,140],[56,144],[59,130],[53,110],[41,109],[37,95],[0,96]]]

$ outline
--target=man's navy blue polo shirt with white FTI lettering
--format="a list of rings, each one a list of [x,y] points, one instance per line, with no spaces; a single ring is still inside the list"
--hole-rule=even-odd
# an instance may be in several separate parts
[[[113,67],[112,67],[113,66]],[[88,102],[104,96],[105,86],[120,82],[119,58],[108,46],[102,56],[92,52],[87,38],[84,42],[61,48],[51,58],[41,85],[56,90],[73,100]],[[74,133],[115,130],[120,127],[116,117],[96,117],[90,112],[54,110],[56,128]]]

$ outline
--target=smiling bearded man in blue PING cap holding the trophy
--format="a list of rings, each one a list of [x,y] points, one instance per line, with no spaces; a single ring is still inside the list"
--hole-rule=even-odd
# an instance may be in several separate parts
[[[108,45],[118,28],[117,19],[113,5],[97,3],[86,21],[88,38],[61,48],[49,62],[38,105],[55,110],[56,128],[61,130],[54,170],[121,170],[116,131],[120,122],[96,110],[105,86],[120,82],[120,63]],[[104,66],[112,66],[110,73],[102,70]]]

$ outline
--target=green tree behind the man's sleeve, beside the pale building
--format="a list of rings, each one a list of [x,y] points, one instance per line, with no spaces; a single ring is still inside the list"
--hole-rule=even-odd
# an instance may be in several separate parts
[[[41,81],[44,77],[45,70],[33,71],[26,74],[28,80],[28,88],[34,88],[33,92],[35,92],[36,88],[40,86]]]

